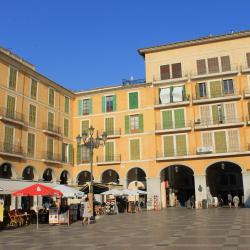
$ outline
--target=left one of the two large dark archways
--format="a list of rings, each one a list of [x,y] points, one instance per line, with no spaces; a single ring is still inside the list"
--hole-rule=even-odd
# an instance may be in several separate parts
[[[161,196],[163,207],[185,206],[195,194],[194,172],[183,165],[173,165],[161,171]]]

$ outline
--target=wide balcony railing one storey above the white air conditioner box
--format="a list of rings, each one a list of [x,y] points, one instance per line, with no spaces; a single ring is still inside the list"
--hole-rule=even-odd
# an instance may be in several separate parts
[[[201,127],[211,127],[211,126],[220,126],[220,125],[244,125],[244,117],[221,117],[217,119],[207,119],[207,120],[200,120],[197,119],[194,122],[195,128]]]

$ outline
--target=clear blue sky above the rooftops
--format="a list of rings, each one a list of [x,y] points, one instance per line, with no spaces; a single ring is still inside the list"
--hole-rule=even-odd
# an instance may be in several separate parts
[[[137,49],[250,29],[249,0],[4,0],[0,46],[70,89],[145,78]]]

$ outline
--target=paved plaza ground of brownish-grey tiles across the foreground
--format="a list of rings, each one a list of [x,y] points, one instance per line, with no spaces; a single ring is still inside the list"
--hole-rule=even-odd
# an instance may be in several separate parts
[[[250,249],[250,209],[166,209],[0,231],[0,250]]]

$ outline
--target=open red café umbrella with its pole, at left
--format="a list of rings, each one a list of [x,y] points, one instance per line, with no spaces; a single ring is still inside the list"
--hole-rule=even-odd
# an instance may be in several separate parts
[[[62,197],[62,192],[51,187],[47,187],[40,183],[36,183],[29,187],[17,190],[12,193],[13,196],[57,196]],[[37,199],[37,229],[38,229],[38,199]]]

